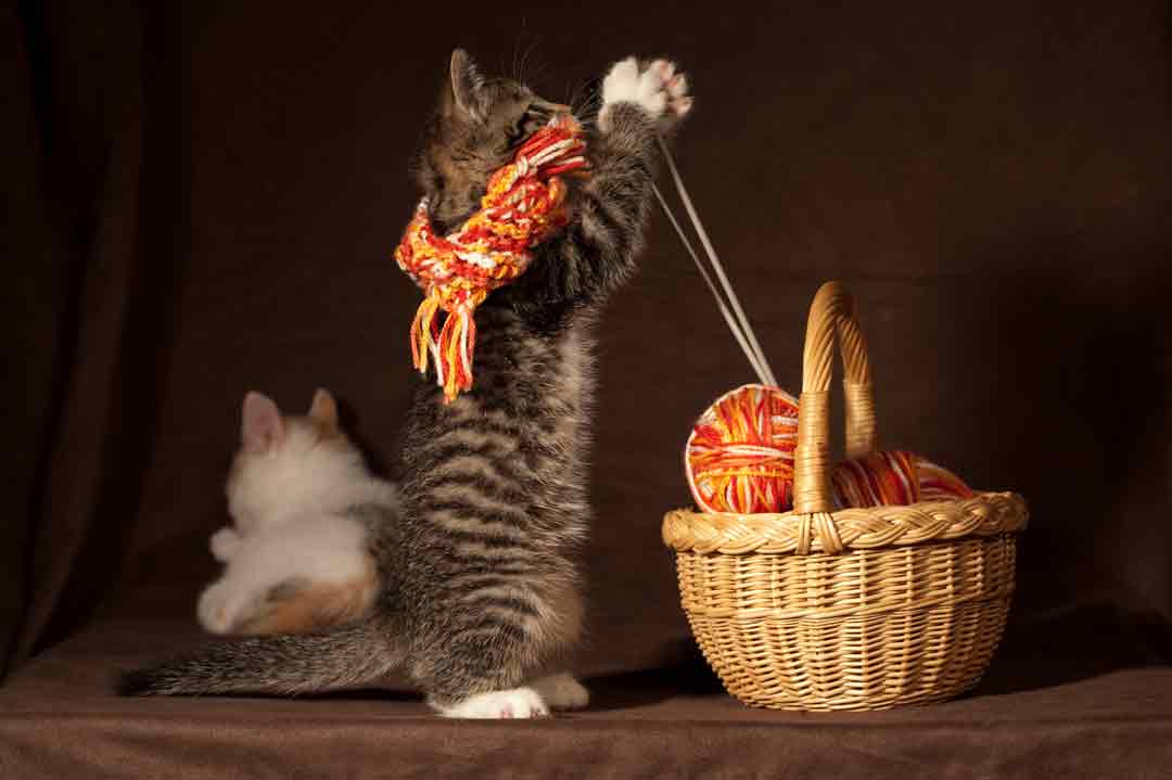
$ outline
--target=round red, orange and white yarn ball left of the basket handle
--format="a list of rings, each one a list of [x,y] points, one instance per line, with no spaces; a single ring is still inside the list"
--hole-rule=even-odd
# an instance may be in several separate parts
[[[793,504],[797,398],[747,384],[717,398],[684,447],[688,487],[704,512],[784,512]]]

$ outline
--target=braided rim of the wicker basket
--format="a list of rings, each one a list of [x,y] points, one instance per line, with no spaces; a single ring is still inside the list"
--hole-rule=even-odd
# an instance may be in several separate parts
[[[1026,499],[1013,492],[981,492],[952,501],[921,501],[906,506],[849,508],[829,515],[843,552],[881,549],[969,536],[1017,533],[1029,522]],[[663,543],[683,553],[799,553],[823,554],[820,534],[810,533],[813,515],[795,512],[731,514],[673,509],[663,516]]]

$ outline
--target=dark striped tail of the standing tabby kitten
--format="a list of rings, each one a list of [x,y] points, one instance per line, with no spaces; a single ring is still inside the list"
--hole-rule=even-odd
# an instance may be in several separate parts
[[[122,675],[122,696],[279,693],[350,687],[389,673],[402,662],[379,621],[328,634],[260,636],[216,642],[192,654]]]

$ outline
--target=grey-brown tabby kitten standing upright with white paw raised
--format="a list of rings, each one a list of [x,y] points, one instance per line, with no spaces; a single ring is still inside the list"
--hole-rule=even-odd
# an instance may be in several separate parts
[[[527,718],[582,706],[568,675],[532,680],[577,641],[573,554],[586,535],[590,324],[634,271],[650,206],[656,130],[690,107],[674,66],[615,64],[602,82],[592,176],[570,224],[476,312],[476,383],[451,404],[421,385],[403,447],[400,518],[370,525],[380,594],[370,618],[325,634],[222,643],[134,672],[130,693],[293,693],[403,668],[441,713]],[[478,207],[491,173],[553,104],[452,54],[416,171],[437,233]]]

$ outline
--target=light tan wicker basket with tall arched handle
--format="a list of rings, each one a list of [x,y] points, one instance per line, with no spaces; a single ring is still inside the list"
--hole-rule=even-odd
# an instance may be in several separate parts
[[[875,449],[866,343],[838,282],[810,307],[793,511],[663,519],[700,648],[745,704],[879,710],[980,680],[1004,630],[1024,500],[1014,493],[832,512],[834,336],[846,372],[846,452]]]

